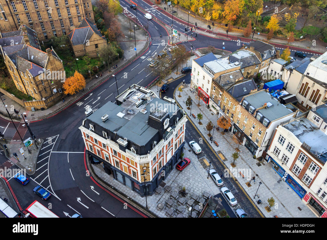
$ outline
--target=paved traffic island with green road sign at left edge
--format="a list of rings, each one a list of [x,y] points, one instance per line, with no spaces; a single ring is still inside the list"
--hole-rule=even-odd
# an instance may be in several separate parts
[[[17,165],[19,168],[26,169],[27,175],[33,175],[35,173],[36,162],[44,140],[37,139],[38,146],[35,144],[34,140],[26,140],[25,144],[22,141],[4,141],[4,139],[1,139],[0,143],[6,157],[12,163]]]

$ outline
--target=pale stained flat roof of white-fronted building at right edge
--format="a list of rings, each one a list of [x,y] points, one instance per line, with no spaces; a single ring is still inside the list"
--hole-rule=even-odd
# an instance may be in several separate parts
[[[292,132],[301,143],[305,142],[309,145],[311,147],[310,152],[315,155],[317,155],[317,153],[321,154],[327,152],[327,135],[306,118],[290,122],[283,127]],[[326,157],[321,156],[319,159],[324,163],[326,162],[323,160],[326,159]]]

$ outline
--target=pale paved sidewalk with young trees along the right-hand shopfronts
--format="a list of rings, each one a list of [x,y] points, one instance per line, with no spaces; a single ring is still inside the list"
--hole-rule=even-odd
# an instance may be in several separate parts
[[[183,91],[181,92],[181,97],[178,97],[179,91],[175,92],[175,100],[180,104],[180,106],[185,109],[187,115],[190,115],[190,110],[186,109],[185,101],[188,96],[191,96],[193,99],[192,105],[192,113],[197,116],[198,113],[203,115],[203,119],[201,120],[202,125],[198,124],[198,120],[195,120],[192,116],[189,118],[193,121],[193,123],[197,126],[198,130],[202,133],[207,142],[209,142],[209,137],[207,136],[208,131],[204,130],[207,123],[211,120],[214,125],[217,124],[218,116],[213,114],[212,111],[207,109],[207,106],[200,100],[200,107],[197,106],[198,100],[196,99],[196,93],[192,93],[190,91],[190,86],[183,85]],[[231,167],[232,153],[235,152],[235,148],[237,148],[237,144],[232,139],[232,133],[228,132],[224,135],[221,132],[213,133],[213,140],[219,144],[217,147],[214,143],[211,144],[212,148],[217,152],[220,151],[219,154],[220,159],[224,162],[229,169],[229,172],[239,172],[240,170],[243,172],[243,169],[246,172],[249,172],[249,176],[245,176],[244,178],[239,174],[234,174],[234,177],[237,178],[239,183],[245,189],[245,191],[249,194],[249,196],[253,199],[255,192],[258,189],[258,183],[262,182],[258,194],[260,199],[262,200],[261,204],[257,204],[258,197],[255,198],[255,203],[258,208],[262,211],[262,213],[266,217],[274,217],[277,215],[278,217],[316,217],[314,213],[301,201],[300,197],[284,182],[281,181],[277,183],[280,179],[279,175],[272,169],[270,163],[263,162],[258,164],[258,160],[253,159],[252,154],[245,148],[245,146],[240,145],[239,149],[239,158],[235,162],[236,168]],[[228,172],[225,172],[225,177],[229,177]],[[255,183],[251,181],[251,186],[248,187],[246,185],[253,176],[256,176]],[[275,199],[275,207],[271,208],[271,211],[268,213],[265,207],[268,206],[268,198],[273,197]],[[242,207],[242,203],[240,202]],[[301,208],[301,210],[298,209]]]

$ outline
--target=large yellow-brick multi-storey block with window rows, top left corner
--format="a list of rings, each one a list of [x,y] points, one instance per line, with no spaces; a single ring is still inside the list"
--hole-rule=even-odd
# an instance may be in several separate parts
[[[40,41],[68,34],[84,17],[94,23],[90,0],[0,0],[0,30],[15,31],[24,22]]]

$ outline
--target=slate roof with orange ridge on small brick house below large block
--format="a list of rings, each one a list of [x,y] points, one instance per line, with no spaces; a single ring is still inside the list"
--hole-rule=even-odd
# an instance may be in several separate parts
[[[84,44],[86,40],[89,40],[93,33],[96,33],[101,38],[105,39],[105,37],[102,36],[96,25],[93,24],[87,18],[84,18],[81,24],[79,24],[78,28],[75,28],[73,31],[71,31],[68,36],[72,41],[73,45],[79,45]]]

